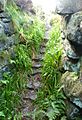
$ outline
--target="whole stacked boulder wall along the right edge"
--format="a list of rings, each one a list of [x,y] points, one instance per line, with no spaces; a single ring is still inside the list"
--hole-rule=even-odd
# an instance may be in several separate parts
[[[61,82],[68,101],[67,116],[69,120],[78,120],[79,117],[82,119],[82,0],[58,0],[56,10],[63,15],[63,66],[66,72]]]

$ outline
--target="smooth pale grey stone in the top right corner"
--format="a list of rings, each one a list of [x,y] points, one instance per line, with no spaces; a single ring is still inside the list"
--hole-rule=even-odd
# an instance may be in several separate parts
[[[71,14],[82,10],[82,0],[58,0],[56,12],[58,14]]]

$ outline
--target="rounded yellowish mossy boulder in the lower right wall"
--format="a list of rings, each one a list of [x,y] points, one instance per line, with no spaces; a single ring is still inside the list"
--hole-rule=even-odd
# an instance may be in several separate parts
[[[67,71],[65,74],[63,74],[61,81],[64,85],[63,90],[66,96],[74,96],[82,99],[82,82],[79,80],[78,74]]]

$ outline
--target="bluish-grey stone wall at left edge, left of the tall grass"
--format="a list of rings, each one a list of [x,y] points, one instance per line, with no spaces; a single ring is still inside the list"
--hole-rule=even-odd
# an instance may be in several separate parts
[[[11,17],[5,11],[6,0],[0,0],[0,79],[3,73],[10,74],[10,58],[14,55],[16,43]]]

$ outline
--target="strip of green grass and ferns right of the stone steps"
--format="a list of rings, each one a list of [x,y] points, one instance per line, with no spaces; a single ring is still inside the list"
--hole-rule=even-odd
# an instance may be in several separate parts
[[[55,20],[50,32],[50,40],[46,45],[43,62],[43,86],[38,91],[36,104],[38,108],[33,113],[34,120],[60,120],[65,115],[65,97],[61,91],[61,55],[60,22]]]

